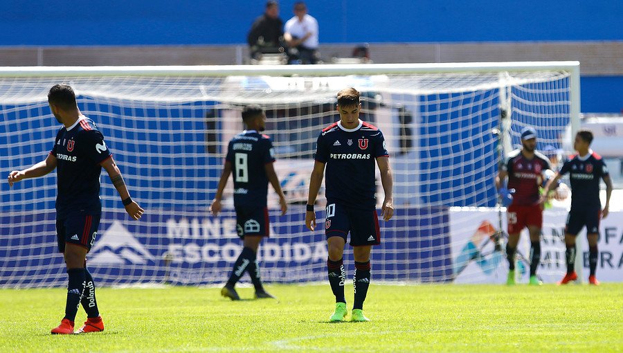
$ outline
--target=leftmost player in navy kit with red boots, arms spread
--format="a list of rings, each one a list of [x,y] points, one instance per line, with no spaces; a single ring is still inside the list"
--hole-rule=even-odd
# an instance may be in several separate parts
[[[55,84],[48,93],[50,109],[59,123],[52,151],[45,161],[26,170],[14,170],[8,176],[12,186],[22,179],[42,177],[57,170],[56,231],[58,249],[64,255],[69,275],[65,316],[52,334],[73,334],[78,307],[87,311],[87,322],[75,333],[104,330],[95,296],[95,285],[87,269],[87,253],[96,239],[102,203],[100,172],[108,172],[119,192],[125,211],[133,219],[141,218],[143,208],[132,200],[121,172],[93,120],[80,113],[73,89]]]

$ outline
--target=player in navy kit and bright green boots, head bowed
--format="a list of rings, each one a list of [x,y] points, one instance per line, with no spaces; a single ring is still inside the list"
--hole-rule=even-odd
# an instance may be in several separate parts
[[[381,244],[379,219],[374,192],[374,161],[381,172],[385,199],[381,216],[388,221],[394,214],[392,200],[392,172],[389,154],[381,130],[359,119],[361,103],[359,92],[354,88],[343,89],[337,94],[340,120],[323,129],[318,136],[316,161],[311,172],[305,226],[316,228],[314,203],[320,184],[325,181],[327,209],[325,236],[329,248],[327,267],[329,284],[335,296],[335,311],[330,321],[341,321],[347,315],[344,297],[346,271],[343,264],[344,246],[350,232],[353,247],[355,274],[352,321],[368,321],[363,315],[363,300],[370,286],[370,251]]]

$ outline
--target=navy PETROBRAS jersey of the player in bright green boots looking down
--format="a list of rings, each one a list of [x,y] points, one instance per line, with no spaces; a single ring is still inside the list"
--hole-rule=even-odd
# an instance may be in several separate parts
[[[338,201],[352,208],[374,209],[375,162],[389,156],[383,133],[360,120],[354,129],[341,123],[329,125],[318,136],[316,161],[326,163],[327,200]]]

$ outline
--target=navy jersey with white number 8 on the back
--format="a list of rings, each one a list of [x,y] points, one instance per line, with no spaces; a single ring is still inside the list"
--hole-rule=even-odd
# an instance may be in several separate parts
[[[255,130],[237,134],[229,142],[226,161],[234,179],[234,205],[267,206],[268,177],[264,166],[275,161],[273,143]]]

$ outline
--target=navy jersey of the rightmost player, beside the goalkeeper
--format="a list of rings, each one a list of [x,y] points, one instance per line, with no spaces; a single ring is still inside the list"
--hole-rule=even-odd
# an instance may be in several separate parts
[[[570,173],[571,208],[599,206],[599,179],[608,176],[608,168],[602,156],[593,151],[584,158],[575,155],[566,161],[560,174]]]

